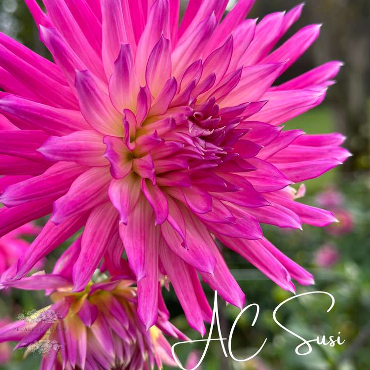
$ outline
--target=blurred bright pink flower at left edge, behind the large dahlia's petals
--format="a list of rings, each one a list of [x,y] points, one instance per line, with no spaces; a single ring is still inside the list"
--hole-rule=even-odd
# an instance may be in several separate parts
[[[41,227],[34,223],[26,223],[17,229],[10,231],[0,238],[0,276],[14,263],[30,246],[30,243],[22,239],[24,236],[37,236]],[[38,261],[35,269],[42,267],[42,261]]]

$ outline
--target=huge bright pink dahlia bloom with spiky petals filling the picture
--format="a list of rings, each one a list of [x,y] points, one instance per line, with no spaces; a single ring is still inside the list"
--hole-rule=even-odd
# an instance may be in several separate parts
[[[190,0],[178,28],[180,0],[44,0],[47,14],[26,3],[55,64],[0,36],[0,174],[13,181],[0,198],[0,230],[52,216],[8,280],[84,226],[70,260],[73,292],[103,257],[119,264],[125,251],[147,328],[162,275],[201,333],[210,308],[197,271],[243,306],[214,237],[283,289],[294,291],[291,277],[313,282],[259,226],[333,222],[294,201],[289,185],[349,155],[340,134],[282,131],[322,102],[342,65],[271,87],[319,35],[320,25],[307,26],[271,53],[302,5],[256,25],[245,20],[253,0],[223,20],[227,0]]]

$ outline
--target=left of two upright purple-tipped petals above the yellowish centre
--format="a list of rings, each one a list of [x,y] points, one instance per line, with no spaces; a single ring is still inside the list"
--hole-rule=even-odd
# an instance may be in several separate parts
[[[135,74],[134,56],[130,44],[121,44],[114,70],[109,80],[109,93],[114,108],[123,113],[125,109],[136,111],[139,82]]]

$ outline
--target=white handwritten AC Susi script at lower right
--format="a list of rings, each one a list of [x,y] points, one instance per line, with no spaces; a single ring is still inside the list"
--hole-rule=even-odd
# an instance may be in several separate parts
[[[306,296],[306,295],[309,295],[309,294],[326,294],[328,296],[330,296],[332,298],[332,304],[331,306],[329,307],[329,309],[327,310],[327,312],[329,312],[333,306],[334,306],[334,303],[335,303],[335,299],[334,297],[328,293],[328,292],[307,292],[307,293],[302,293],[302,294],[298,294],[296,296],[292,296],[288,299],[286,299],[285,301],[281,302],[274,310],[272,316],[273,316],[273,319],[275,321],[275,323],[277,325],[279,325],[282,329],[284,329],[286,332],[296,336],[297,338],[299,338],[302,343],[300,343],[298,346],[296,346],[296,354],[299,355],[299,356],[305,356],[305,355],[308,355],[309,353],[312,352],[312,346],[311,346],[311,342],[316,342],[317,344],[321,344],[321,345],[330,345],[331,347],[334,347],[335,343],[337,343],[338,345],[341,345],[344,343],[344,340],[341,342],[340,341],[340,337],[338,336],[336,339],[333,339],[334,336],[330,336],[329,337],[329,341],[326,342],[325,341],[325,335],[322,337],[322,339],[320,340],[319,336],[316,337],[315,339],[310,339],[310,340],[306,340],[304,338],[302,338],[301,336],[299,336],[298,334],[296,333],[293,333],[292,331],[290,331],[289,329],[285,328],[282,324],[279,323],[279,321],[276,319],[276,313],[277,311],[279,310],[279,308],[286,302],[294,299],[294,298],[297,298],[297,297],[300,297],[300,296]],[[237,359],[233,353],[232,353],[232,349],[231,349],[231,340],[232,340],[232,335],[234,333],[234,329],[235,329],[235,326],[236,324],[238,323],[238,320],[240,319],[241,315],[243,315],[244,311],[246,311],[248,308],[250,307],[253,307],[253,306],[256,306],[257,308],[257,312],[256,312],[256,315],[255,315],[255,318],[252,322],[252,326],[254,326],[256,324],[256,321],[257,321],[257,318],[258,318],[258,315],[259,315],[259,305],[257,303],[252,303],[250,305],[248,305],[247,307],[244,307],[242,309],[242,311],[239,313],[239,315],[237,316],[237,318],[235,319],[232,327],[231,327],[231,330],[230,330],[230,335],[229,335],[229,338],[228,338],[228,352],[230,354],[230,357],[234,360],[234,361],[238,361],[238,362],[245,362],[245,361],[248,361],[248,360],[251,360],[253,359],[255,356],[257,356],[259,354],[259,352],[262,350],[263,346],[265,345],[266,341],[267,341],[267,338],[264,340],[264,342],[262,343],[262,345],[259,347],[259,350],[253,355],[253,356],[250,356],[248,357],[247,359],[243,359],[243,360],[239,360]],[[211,336],[212,336],[212,331],[213,331],[213,326],[215,324],[215,318],[216,318],[216,323],[217,323],[217,329],[218,329],[218,332],[219,332],[219,337],[218,338],[212,338],[211,339]],[[340,334],[340,332],[338,333]],[[220,320],[219,320],[219,312],[218,312],[218,306],[217,306],[217,291],[215,291],[215,301],[214,301],[214,306],[213,306],[213,314],[212,314],[212,323],[211,323],[211,328],[210,328],[210,331],[209,331],[209,334],[208,334],[208,338],[207,339],[198,339],[198,340],[187,340],[187,341],[183,341],[183,342],[178,342],[178,343],[175,343],[173,346],[172,346],[172,356],[174,358],[174,360],[176,361],[177,365],[182,369],[182,370],[187,370],[185,368],[182,367],[182,365],[180,364],[176,354],[175,354],[175,347],[179,344],[186,344],[186,343],[195,343],[195,342],[206,342],[206,347],[204,348],[204,351],[203,351],[203,354],[202,354],[202,357],[200,358],[198,364],[192,368],[192,369],[188,369],[188,370],[195,370],[197,369],[200,364],[202,363],[206,353],[207,353],[207,349],[208,349],[208,346],[211,342],[211,340],[220,340],[220,343],[221,343],[221,347],[222,347],[222,351],[223,351],[223,354],[225,355],[225,357],[228,357],[227,356],[227,352],[226,352],[226,349],[225,349],[225,346],[224,346],[224,343],[223,341],[224,340],[227,340],[227,338],[222,338],[222,333],[221,333],[221,327],[220,327]],[[302,347],[302,346],[307,346],[307,351],[304,352],[304,353],[301,353],[299,352],[299,349]]]

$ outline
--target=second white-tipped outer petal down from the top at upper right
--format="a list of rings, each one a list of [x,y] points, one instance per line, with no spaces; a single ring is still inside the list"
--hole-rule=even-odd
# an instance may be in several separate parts
[[[302,28],[277,50],[264,58],[261,63],[276,63],[287,61],[281,73],[288,69],[319,36],[321,25],[311,25]]]

